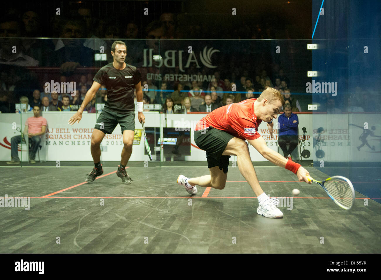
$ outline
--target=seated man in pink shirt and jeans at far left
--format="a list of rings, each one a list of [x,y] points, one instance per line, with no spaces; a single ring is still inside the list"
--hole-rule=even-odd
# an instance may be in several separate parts
[[[40,107],[37,105],[33,107],[34,117],[27,118],[25,122],[24,135],[28,133],[28,138],[32,146],[29,150],[29,160],[30,163],[36,163],[35,157],[38,146],[41,142],[41,135],[45,133],[46,118],[40,117]],[[14,136],[11,138],[11,161],[8,164],[19,164],[20,158],[18,154],[18,144],[21,143],[21,135]]]

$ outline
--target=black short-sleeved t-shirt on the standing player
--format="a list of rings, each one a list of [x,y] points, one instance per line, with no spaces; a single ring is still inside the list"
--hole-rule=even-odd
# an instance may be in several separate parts
[[[136,67],[126,64],[123,70],[117,70],[109,63],[99,69],[93,80],[107,88],[107,101],[104,108],[115,112],[135,110],[134,90],[141,80]]]

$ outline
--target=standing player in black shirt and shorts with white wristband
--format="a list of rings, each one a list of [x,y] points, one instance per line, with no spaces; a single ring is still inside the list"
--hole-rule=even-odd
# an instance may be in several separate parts
[[[140,83],[141,74],[136,67],[125,63],[126,44],[124,42],[115,41],[111,46],[111,54],[114,57],[114,62],[99,69],[93,78],[93,85],[86,93],[80,109],[69,119],[69,123],[70,125],[75,122],[79,123],[86,105],[94,98],[101,85],[105,85],[107,88],[107,101],[91,135],[91,155],[95,167],[91,173],[86,175],[85,181],[93,182],[97,176],[103,173],[100,144],[105,134],[111,134],[119,123],[122,128],[124,147],[117,176],[122,178],[124,184],[131,184],[133,180],[128,176],[125,167],[132,153],[135,131],[134,90],[136,90],[139,112],[138,120],[139,122],[144,122],[145,119],[142,113],[143,91]]]

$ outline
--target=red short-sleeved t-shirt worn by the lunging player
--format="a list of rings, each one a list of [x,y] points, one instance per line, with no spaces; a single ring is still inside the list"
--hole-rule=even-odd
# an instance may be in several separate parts
[[[256,100],[252,98],[219,107],[203,117],[197,123],[195,130],[202,130],[212,126],[242,140],[257,139],[261,137],[258,133],[258,126],[262,120],[257,120],[254,113],[254,102]]]

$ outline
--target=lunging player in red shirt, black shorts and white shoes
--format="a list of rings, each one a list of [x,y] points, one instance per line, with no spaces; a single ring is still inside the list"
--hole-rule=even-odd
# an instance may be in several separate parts
[[[282,218],[283,213],[275,207],[276,198],[270,199],[259,185],[253,164],[250,159],[248,144],[255,147],[264,158],[275,165],[286,168],[298,176],[299,181],[309,184],[309,173],[300,164],[287,160],[282,155],[267,147],[258,133],[262,121],[268,123],[272,136],[274,123],[284,105],[284,99],[278,90],[267,88],[258,99],[247,99],[213,110],[202,118],[195,127],[194,140],[200,149],[207,152],[210,175],[187,178],[180,175],[179,185],[184,186],[189,194],[197,194],[197,186],[223,189],[226,183],[229,158],[236,155],[238,167],[258,197],[257,213],[267,218]]]

